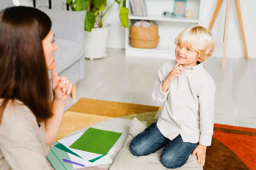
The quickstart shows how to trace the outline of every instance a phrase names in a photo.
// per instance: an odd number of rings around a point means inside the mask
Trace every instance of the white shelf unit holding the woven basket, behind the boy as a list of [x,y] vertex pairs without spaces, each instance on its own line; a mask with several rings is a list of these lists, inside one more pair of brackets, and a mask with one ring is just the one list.
[[134,48],[130,45],[130,29],[126,29],[125,36],[125,56],[126,57],[153,57],[175,59],[175,37],[185,28],[199,24],[201,21],[203,0],[187,0],[186,9],[194,12],[194,18],[185,17],[171,18],[163,16],[164,11],[173,11],[174,0],[146,0],[148,16],[133,16],[130,10],[130,2],[126,0],[126,7],[129,9],[129,25],[137,20],[151,20],[158,25],[159,44],[153,49]]

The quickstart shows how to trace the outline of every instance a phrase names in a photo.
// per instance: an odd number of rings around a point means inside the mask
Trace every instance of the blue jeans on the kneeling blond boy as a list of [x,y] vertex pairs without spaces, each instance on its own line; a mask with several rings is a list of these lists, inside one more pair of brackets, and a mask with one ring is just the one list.
[[198,143],[183,142],[181,135],[169,140],[162,135],[156,123],[152,123],[131,141],[130,150],[135,156],[146,156],[164,147],[161,155],[163,166],[180,168],[197,145]]

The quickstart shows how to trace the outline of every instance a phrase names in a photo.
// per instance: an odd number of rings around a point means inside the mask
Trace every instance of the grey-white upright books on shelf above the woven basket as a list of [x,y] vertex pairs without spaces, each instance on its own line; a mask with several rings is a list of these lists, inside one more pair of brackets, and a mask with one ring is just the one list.
[[[146,0],[130,0],[131,11],[134,16],[148,16]],[[141,11],[141,12],[140,12]]]

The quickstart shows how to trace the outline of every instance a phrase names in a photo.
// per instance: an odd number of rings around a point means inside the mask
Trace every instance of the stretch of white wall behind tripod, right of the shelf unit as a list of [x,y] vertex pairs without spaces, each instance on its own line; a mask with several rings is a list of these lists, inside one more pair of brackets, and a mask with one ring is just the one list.
[[[202,25],[206,28],[209,28],[211,18],[216,8],[217,2],[217,0],[204,0],[204,19]],[[219,11],[219,14],[212,29],[212,34],[214,36],[217,46],[216,51],[213,53],[213,55],[219,57],[223,56],[222,42],[225,26],[226,3],[227,0],[223,0],[221,9]],[[256,58],[256,51],[254,50],[254,41],[256,39],[256,34],[253,31],[256,29],[256,24],[254,22],[254,17],[256,16],[255,6],[255,0],[240,0],[241,15],[243,19],[243,26],[249,58]],[[237,18],[236,5],[234,0],[231,0],[229,11],[227,57],[244,57],[244,48],[239,29],[239,22]]]

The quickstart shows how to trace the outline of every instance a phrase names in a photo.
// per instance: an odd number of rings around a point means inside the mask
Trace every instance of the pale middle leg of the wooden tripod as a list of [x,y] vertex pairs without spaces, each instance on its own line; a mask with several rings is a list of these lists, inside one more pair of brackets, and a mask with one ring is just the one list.
[[225,29],[224,29],[225,31],[224,31],[224,46],[223,46],[223,58],[222,58],[222,70],[224,70],[224,69],[225,69],[225,66],[226,66],[229,7],[230,7],[230,0],[227,0],[226,19],[225,19]]

